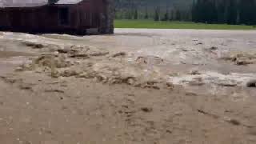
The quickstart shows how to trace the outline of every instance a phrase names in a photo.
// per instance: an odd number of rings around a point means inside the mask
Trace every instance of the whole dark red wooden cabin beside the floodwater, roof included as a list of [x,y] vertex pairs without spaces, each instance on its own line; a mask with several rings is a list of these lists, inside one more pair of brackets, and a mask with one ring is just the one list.
[[0,30],[113,34],[113,0],[0,0]]

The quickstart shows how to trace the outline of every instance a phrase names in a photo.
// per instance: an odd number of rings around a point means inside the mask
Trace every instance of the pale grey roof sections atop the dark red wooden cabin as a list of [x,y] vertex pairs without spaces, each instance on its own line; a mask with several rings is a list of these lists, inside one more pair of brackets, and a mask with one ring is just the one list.
[[[76,4],[82,0],[58,0],[55,4]],[[34,7],[44,6],[48,0],[0,0],[0,7]]]

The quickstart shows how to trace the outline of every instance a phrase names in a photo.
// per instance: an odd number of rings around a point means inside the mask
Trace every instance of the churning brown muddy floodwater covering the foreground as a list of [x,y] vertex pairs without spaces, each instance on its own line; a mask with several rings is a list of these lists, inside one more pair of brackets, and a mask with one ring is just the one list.
[[0,32],[0,142],[254,144],[256,31]]

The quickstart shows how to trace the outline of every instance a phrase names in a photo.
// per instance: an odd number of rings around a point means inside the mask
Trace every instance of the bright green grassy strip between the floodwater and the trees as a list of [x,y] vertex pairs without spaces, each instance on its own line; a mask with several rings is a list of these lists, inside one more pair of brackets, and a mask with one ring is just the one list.
[[256,30],[256,26],[204,24],[194,22],[155,22],[153,20],[115,20],[115,28]]

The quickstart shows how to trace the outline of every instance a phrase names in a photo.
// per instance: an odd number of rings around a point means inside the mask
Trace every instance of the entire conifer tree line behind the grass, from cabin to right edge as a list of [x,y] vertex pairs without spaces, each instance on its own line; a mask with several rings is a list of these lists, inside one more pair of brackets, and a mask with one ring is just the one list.
[[256,25],[256,0],[193,0],[190,7],[138,6],[130,1],[116,18]]

